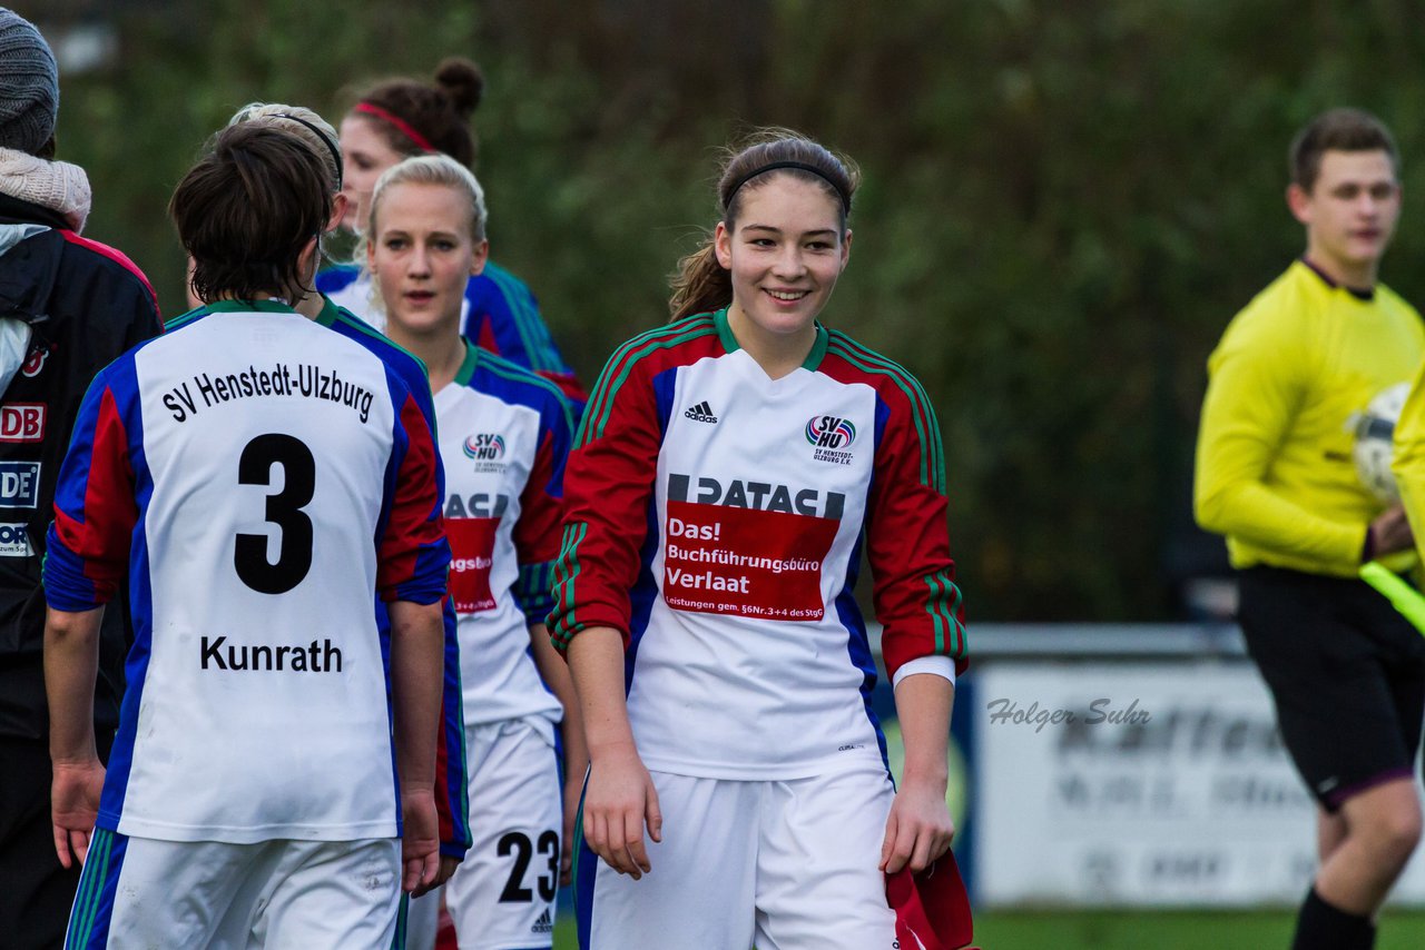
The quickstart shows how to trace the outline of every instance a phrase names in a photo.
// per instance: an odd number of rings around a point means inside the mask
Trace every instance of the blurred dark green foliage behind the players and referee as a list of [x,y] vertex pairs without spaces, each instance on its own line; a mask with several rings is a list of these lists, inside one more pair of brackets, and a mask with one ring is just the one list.
[[1406,211],[1384,278],[1425,303],[1425,34],[1405,0],[115,7],[114,64],[64,81],[61,152],[91,172],[90,232],[168,313],[182,262],[162,209],[238,105],[335,121],[353,85],[452,53],[487,74],[494,255],[590,382],[665,319],[665,276],[715,219],[717,145],[778,124],[855,157],[826,319],[939,407],[972,620],[1174,610],[1203,362],[1301,251],[1285,145],[1317,111],[1395,128]]

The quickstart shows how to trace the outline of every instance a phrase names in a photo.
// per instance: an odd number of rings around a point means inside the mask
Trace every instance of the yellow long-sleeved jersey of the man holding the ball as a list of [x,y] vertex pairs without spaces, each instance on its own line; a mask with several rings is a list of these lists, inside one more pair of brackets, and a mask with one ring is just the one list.
[[1385,506],[1355,473],[1355,422],[1422,356],[1409,303],[1384,285],[1364,298],[1302,261],[1233,318],[1207,359],[1193,489],[1197,523],[1227,536],[1233,567],[1357,574]]

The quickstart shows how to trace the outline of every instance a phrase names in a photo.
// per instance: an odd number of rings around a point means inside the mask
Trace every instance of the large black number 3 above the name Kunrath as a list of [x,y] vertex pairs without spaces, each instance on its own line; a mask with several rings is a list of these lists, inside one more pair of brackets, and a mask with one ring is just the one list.
[[282,490],[266,497],[266,521],[278,528],[276,563],[268,561],[266,534],[238,534],[232,565],[244,584],[262,594],[285,594],[312,570],[312,518],[302,508],[316,490],[316,460],[301,439],[269,432],[242,449],[238,484],[271,486],[282,467]]

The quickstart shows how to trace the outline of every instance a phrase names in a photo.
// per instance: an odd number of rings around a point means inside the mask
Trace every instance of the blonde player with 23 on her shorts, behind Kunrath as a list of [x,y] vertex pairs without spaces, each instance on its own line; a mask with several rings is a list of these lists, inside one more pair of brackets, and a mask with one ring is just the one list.
[[[380,177],[365,228],[386,332],[429,369],[446,471],[475,835],[446,884],[463,950],[550,946],[566,837],[554,755],[564,709],[542,672],[573,706],[543,624],[569,406],[549,380],[460,336],[462,295],[487,252],[484,216],[475,175],[428,155]],[[564,741],[577,789],[586,762],[577,716],[566,719]]]

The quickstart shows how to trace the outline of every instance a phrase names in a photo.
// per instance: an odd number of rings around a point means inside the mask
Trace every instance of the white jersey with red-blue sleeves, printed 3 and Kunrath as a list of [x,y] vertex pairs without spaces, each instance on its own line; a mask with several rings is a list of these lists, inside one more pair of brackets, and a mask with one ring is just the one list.
[[399,803],[372,611],[435,602],[449,548],[409,387],[275,302],[225,302],[90,387],[46,595],[130,580],[134,645],[98,826],[170,840],[390,837]]

